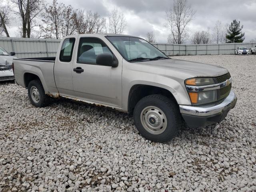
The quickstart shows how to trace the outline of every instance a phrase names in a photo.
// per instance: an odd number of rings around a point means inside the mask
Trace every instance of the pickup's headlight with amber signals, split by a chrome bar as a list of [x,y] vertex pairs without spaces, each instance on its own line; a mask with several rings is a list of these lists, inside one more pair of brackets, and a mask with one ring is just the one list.
[[210,91],[191,91],[194,86],[207,86],[215,84],[213,78],[191,78],[185,81],[188,95],[192,105],[200,105],[217,101],[217,90]]

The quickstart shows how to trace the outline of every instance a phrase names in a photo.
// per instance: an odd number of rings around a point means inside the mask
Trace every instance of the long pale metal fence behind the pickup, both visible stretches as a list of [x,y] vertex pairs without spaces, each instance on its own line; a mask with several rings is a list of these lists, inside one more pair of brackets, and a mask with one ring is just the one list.
[[[0,37],[0,46],[8,52],[15,52],[18,58],[54,57],[60,44],[59,39],[4,38]],[[154,43],[156,48],[168,56],[173,55],[216,55],[234,54],[239,46],[252,48],[256,43],[178,45]]]

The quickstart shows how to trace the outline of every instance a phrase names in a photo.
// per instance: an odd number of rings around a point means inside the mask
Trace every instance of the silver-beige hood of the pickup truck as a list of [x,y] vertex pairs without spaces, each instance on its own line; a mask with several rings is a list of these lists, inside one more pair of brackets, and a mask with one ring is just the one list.
[[164,70],[182,72],[193,77],[216,77],[228,73],[226,68],[220,66],[178,59],[163,59],[157,61],[140,62],[138,64],[154,66]]

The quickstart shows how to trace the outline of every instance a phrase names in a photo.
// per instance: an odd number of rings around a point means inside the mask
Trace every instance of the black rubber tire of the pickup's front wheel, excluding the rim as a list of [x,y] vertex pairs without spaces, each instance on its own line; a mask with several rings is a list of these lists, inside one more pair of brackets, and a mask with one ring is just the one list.
[[[149,106],[155,106],[164,112],[167,120],[167,126],[165,126],[164,132],[160,134],[152,134],[144,128],[143,115],[141,120],[141,114],[145,108]],[[146,112],[147,113],[147,112]],[[140,134],[147,140],[154,142],[167,142],[172,140],[178,131],[181,124],[181,115],[176,102],[170,100],[166,96],[162,95],[149,95],[142,98],[134,108],[134,123]],[[144,118],[146,119],[146,118]],[[150,120],[149,120],[150,121]],[[153,123],[156,121],[154,120]],[[163,121],[164,122],[164,121]]]

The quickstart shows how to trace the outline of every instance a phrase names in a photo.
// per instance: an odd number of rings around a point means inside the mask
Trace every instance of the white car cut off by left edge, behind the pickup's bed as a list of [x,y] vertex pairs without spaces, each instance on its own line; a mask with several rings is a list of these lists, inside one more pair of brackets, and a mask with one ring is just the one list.
[[16,58],[14,55],[14,52],[9,54],[0,46],[0,81],[15,80],[12,71],[12,59]]

